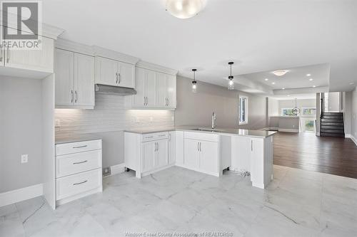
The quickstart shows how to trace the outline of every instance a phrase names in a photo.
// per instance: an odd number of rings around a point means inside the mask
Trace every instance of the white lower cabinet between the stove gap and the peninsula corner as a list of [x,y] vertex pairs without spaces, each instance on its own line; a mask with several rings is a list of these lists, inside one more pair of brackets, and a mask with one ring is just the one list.
[[135,170],[136,177],[141,178],[174,164],[172,160],[169,163],[169,143],[171,144],[169,137],[169,132],[156,132],[146,135],[125,132],[124,158],[126,167]]

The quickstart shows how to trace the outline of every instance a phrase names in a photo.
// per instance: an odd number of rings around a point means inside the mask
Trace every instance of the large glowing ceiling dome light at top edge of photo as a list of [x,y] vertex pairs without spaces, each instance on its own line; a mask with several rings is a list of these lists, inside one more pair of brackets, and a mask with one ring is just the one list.
[[179,19],[196,16],[203,9],[203,0],[166,0],[166,11]]

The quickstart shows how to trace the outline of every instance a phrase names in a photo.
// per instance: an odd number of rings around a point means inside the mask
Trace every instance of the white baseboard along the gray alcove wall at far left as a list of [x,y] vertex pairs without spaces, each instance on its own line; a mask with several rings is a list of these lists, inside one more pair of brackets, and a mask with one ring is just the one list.
[[0,194],[0,207],[16,204],[16,202],[33,199],[36,196],[42,195],[44,195],[44,186],[42,184],[27,186],[23,189],[6,191],[5,193]]

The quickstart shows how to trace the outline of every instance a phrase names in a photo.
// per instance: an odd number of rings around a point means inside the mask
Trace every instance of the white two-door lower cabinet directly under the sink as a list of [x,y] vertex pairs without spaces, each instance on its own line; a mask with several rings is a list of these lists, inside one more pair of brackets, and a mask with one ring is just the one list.
[[184,132],[183,167],[219,176],[218,135]]

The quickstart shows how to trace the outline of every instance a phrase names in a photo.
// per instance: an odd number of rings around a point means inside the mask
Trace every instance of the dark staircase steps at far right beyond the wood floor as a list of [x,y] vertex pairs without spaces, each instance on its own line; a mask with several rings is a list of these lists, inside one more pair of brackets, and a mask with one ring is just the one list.
[[321,137],[345,137],[343,112],[323,112],[321,115]]

